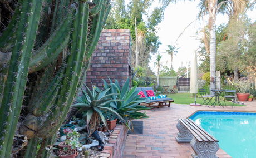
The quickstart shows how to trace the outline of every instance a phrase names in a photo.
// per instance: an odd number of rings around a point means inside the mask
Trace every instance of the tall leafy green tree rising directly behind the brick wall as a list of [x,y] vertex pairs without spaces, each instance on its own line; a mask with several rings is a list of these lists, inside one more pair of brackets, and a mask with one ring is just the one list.
[[[148,67],[151,55],[157,52],[160,45],[156,32],[158,30],[157,24],[163,19],[161,14],[163,9],[156,7],[151,14],[148,14],[147,9],[149,9],[151,2],[152,0],[131,0],[125,6],[125,0],[114,1],[114,7],[111,9],[106,22],[106,29],[130,29],[132,43],[134,43],[131,57],[133,67]],[[125,11],[125,16],[119,16],[116,11]],[[144,21],[142,17],[146,17],[147,20]],[[136,39],[136,31],[138,39]]]

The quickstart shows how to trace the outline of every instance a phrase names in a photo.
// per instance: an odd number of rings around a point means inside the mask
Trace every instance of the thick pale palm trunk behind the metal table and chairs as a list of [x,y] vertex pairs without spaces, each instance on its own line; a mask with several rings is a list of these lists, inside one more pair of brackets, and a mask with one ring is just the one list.
[[216,88],[216,12],[217,12],[217,0],[208,0],[209,11],[209,31],[210,31],[210,89]]

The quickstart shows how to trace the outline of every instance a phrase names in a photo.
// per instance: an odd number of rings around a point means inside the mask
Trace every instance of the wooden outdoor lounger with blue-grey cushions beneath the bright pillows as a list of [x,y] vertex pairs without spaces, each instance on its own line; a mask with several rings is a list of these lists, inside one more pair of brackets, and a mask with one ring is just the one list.
[[[146,91],[153,90],[153,88],[152,87],[137,87],[136,90],[142,91],[144,93],[144,95],[146,97],[148,97]],[[153,92],[154,92],[154,90],[153,90]],[[155,95],[155,93],[154,93],[154,95]],[[156,100],[148,99],[144,103],[147,104],[147,106],[149,106],[149,107],[153,107],[152,105],[154,105],[155,103],[158,103],[157,108],[161,108],[162,106],[170,107],[171,102],[174,102],[174,100],[172,98],[157,98]]]

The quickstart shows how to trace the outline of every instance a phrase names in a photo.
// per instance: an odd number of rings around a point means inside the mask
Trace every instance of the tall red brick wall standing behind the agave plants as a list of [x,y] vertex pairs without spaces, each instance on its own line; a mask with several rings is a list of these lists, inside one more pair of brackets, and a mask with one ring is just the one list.
[[130,71],[130,31],[129,29],[104,29],[91,57],[87,71],[86,85],[91,83],[102,87],[102,79],[118,80],[122,86]]

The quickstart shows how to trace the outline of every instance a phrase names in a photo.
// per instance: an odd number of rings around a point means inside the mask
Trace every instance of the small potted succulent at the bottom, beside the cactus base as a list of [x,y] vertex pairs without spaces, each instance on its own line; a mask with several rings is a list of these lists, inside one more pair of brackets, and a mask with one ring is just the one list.
[[75,158],[78,153],[76,152],[76,149],[78,147],[81,147],[80,142],[78,142],[78,138],[80,135],[76,131],[68,132],[67,133],[67,139],[65,142],[61,142],[59,146],[65,145],[60,151],[60,158]]

